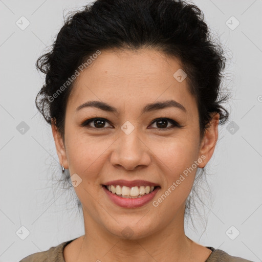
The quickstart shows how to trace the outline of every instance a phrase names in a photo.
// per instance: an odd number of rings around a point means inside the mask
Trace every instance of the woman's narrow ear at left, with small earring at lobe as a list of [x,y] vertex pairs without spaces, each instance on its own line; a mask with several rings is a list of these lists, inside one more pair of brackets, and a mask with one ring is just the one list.
[[56,152],[59,158],[60,165],[63,165],[65,169],[68,169],[67,154],[65,152],[65,147],[63,144],[63,139],[60,132],[58,132],[57,126],[55,125],[55,120],[52,118],[52,133],[55,140]]

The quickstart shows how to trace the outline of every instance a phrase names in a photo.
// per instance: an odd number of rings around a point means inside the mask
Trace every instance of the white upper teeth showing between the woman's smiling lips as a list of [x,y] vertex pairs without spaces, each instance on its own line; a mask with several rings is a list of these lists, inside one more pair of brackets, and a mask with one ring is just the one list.
[[118,197],[126,199],[137,199],[142,198],[145,195],[150,194],[156,188],[160,186],[120,186],[120,185],[102,185],[106,190],[110,191],[113,194],[116,194]]

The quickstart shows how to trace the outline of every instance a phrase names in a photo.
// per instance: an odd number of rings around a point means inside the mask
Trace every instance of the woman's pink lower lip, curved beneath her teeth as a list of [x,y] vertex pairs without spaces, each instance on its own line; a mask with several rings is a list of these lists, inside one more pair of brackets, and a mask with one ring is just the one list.
[[119,197],[117,194],[113,194],[111,191],[107,190],[104,186],[102,186],[102,187],[103,187],[105,193],[108,195],[108,197],[115,204],[117,204],[120,207],[127,207],[127,208],[135,208],[135,207],[141,207],[141,206],[145,205],[146,203],[148,203],[150,200],[152,200],[155,197],[156,193],[160,189],[160,187],[157,187],[154,191],[152,191],[149,194],[145,194],[141,198],[126,199],[126,198]]

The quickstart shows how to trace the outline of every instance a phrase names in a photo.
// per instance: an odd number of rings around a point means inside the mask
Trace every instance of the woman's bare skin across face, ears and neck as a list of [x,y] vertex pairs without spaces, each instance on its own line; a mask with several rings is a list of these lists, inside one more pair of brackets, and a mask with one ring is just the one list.
[[[195,168],[159,204],[152,205],[183,171],[202,155],[203,168],[217,141],[219,114],[213,114],[210,127],[200,138],[197,101],[189,92],[188,79],[178,82],[173,74],[182,68],[174,57],[160,51],[107,50],[76,79],[65,114],[64,142],[52,124],[60,164],[77,173],[82,182],[75,187],[82,203],[85,235],[65,247],[71,261],[176,261],[204,262],[211,250],[189,239],[184,232],[185,202],[191,191]],[[147,103],[173,99],[186,108],[168,107],[141,113]],[[76,108],[90,100],[106,102],[119,113],[95,107]],[[105,118],[104,128],[90,118]],[[170,118],[165,130],[157,118]],[[126,135],[121,126],[129,121],[134,130]],[[161,186],[155,198],[139,208],[114,204],[102,189],[107,181],[146,180]],[[131,238],[121,232],[132,229]],[[172,232],[172,233],[171,233]],[[99,261],[99,260],[98,260]]]

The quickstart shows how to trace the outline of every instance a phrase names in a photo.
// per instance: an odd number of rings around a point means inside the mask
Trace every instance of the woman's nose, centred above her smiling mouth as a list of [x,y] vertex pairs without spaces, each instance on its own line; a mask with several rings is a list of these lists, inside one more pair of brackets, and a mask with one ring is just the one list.
[[151,161],[150,149],[137,128],[130,134],[126,134],[122,130],[119,133],[119,137],[112,147],[111,164],[126,170],[135,170],[148,166]]

